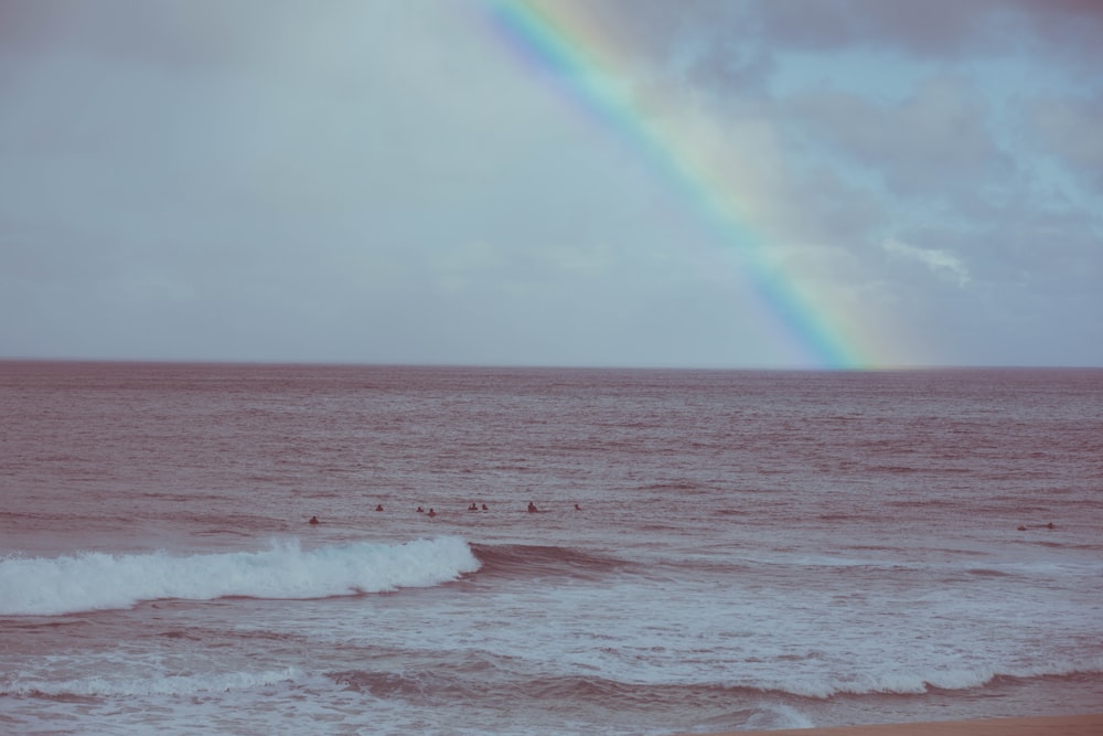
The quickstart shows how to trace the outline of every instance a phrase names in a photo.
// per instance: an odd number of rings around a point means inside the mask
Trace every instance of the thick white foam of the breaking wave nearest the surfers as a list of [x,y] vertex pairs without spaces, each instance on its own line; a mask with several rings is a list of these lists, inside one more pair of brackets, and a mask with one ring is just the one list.
[[53,616],[165,598],[300,599],[382,593],[439,585],[479,567],[468,543],[454,536],[309,551],[290,540],[272,542],[259,552],[8,557],[0,559],[0,615]]

